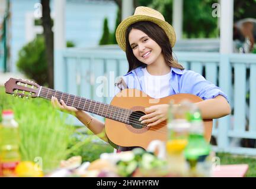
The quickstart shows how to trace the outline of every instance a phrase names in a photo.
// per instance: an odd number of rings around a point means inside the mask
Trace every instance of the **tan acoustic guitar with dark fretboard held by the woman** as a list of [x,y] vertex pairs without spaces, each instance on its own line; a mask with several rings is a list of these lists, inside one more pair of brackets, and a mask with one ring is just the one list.
[[[166,121],[151,127],[139,122],[139,118],[146,114],[145,107],[168,104],[170,100],[173,100],[174,104],[179,104],[184,99],[193,103],[202,101],[200,97],[193,94],[174,94],[161,99],[153,99],[140,90],[124,89],[116,94],[108,105],[49,89],[28,80],[14,78],[10,78],[5,83],[5,92],[20,97],[41,97],[48,100],[55,96],[59,102],[62,99],[68,106],[103,116],[105,118],[105,133],[110,144],[115,148],[118,146],[140,146],[146,149],[153,140],[167,141]],[[212,119],[204,120],[204,131],[205,138],[210,141]]]

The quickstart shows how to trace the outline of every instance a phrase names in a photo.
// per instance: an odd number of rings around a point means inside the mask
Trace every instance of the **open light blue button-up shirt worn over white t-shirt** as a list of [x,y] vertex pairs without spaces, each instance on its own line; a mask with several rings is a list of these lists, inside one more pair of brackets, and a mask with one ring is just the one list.
[[[138,89],[145,92],[145,81],[143,79],[144,72],[143,67],[137,67],[123,76],[124,81],[129,89]],[[222,95],[228,100],[228,97],[222,90],[215,86],[215,84],[207,81],[199,73],[191,70],[180,70],[171,68],[171,77],[169,79],[169,95],[179,93],[195,94],[201,97],[201,99],[213,99],[218,95]],[[115,94],[119,93],[120,89],[115,88]]]

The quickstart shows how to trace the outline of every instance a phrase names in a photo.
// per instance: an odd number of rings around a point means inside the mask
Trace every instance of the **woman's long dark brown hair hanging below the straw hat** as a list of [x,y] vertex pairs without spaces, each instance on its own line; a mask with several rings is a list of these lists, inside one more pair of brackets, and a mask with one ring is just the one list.
[[177,69],[184,70],[184,67],[181,66],[174,58],[172,57],[172,47],[171,43],[169,43],[169,39],[167,34],[161,27],[157,24],[150,21],[140,21],[134,24],[131,24],[126,30],[126,57],[129,63],[128,72],[136,69],[137,67],[143,66],[146,67],[146,64],[137,60],[135,55],[133,54],[132,47],[130,47],[129,43],[129,34],[132,29],[137,29],[145,32],[153,41],[155,41],[161,48],[162,54],[164,55],[164,59],[167,62],[169,67],[174,67]]

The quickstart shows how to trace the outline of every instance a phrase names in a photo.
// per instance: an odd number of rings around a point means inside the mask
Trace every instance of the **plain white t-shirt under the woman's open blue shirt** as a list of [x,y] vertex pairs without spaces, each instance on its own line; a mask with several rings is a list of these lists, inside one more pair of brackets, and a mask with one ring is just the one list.
[[156,99],[169,96],[169,79],[171,78],[171,73],[162,76],[153,76],[148,73],[146,67],[142,70],[144,73],[143,79],[145,82],[146,94]]

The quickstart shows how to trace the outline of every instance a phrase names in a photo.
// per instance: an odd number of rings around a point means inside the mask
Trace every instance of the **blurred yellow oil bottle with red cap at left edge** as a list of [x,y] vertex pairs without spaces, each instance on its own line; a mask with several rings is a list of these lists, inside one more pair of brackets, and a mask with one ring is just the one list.
[[19,144],[18,123],[14,120],[14,113],[12,110],[3,110],[0,123],[0,165],[4,177],[15,177],[15,167],[21,160]]

